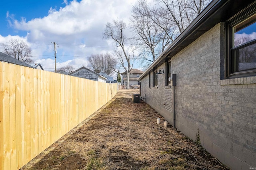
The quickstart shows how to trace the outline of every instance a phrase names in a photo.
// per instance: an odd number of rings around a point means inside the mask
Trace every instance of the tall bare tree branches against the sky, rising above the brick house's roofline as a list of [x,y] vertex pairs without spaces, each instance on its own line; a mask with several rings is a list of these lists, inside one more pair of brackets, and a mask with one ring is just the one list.
[[200,14],[210,0],[138,0],[132,6],[131,28],[142,62],[151,64]]

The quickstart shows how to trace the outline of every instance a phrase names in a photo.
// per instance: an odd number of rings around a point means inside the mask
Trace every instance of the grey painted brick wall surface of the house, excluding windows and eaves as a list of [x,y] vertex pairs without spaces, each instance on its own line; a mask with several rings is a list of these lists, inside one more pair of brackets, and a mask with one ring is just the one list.
[[[232,169],[256,165],[256,77],[220,80],[224,51],[224,24],[220,23],[172,57],[176,74],[176,127],[196,139]],[[165,68],[164,64],[159,68]],[[166,71],[164,71],[166,72]],[[158,87],[142,79],[146,103],[171,124],[173,87],[158,76]]]

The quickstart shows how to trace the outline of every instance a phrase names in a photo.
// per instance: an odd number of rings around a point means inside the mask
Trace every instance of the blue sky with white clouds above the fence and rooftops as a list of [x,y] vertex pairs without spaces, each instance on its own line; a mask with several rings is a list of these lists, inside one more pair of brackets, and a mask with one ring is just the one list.
[[[78,69],[88,66],[91,54],[112,53],[113,41],[103,39],[105,26],[117,18],[128,23],[135,3],[136,0],[1,0],[0,43],[22,39],[32,49],[34,63],[54,71],[56,42],[57,69],[66,65]],[[136,65],[134,68],[141,69]]]

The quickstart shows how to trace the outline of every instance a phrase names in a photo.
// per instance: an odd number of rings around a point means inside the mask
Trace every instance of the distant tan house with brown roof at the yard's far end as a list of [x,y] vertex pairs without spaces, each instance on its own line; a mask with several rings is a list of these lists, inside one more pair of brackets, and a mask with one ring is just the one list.
[[[142,75],[142,73],[144,73],[143,71],[140,71],[138,69],[131,69],[130,71],[130,85],[138,85],[138,78]],[[124,72],[124,73],[121,73],[122,75],[122,82],[123,82],[123,85],[126,85],[127,84],[127,73]]]

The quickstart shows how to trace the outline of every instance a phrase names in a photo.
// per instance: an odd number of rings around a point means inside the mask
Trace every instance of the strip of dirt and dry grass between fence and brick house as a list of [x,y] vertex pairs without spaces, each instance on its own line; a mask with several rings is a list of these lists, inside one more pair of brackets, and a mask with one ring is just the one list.
[[[68,132],[22,170],[229,169],[166,121],[138,90],[120,90],[99,111]],[[156,119],[160,118],[160,124]]]

